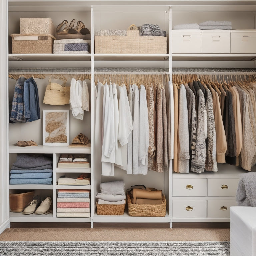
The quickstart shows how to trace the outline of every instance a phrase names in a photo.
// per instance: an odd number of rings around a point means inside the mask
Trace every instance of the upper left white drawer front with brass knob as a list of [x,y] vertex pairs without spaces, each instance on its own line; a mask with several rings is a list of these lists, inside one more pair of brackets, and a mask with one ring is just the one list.
[[173,179],[173,196],[206,196],[207,179]]

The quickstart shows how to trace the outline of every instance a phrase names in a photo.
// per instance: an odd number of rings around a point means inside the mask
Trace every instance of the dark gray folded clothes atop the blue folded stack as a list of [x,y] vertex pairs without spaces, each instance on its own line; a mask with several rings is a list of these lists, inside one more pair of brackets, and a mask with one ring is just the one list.
[[16,161],[13,163],[13,166],[19,168],[34,168],[40,166],[45,167],[48,164],[52,164],[52,158],[46,157],[42,154],[17,154],[17,158]]

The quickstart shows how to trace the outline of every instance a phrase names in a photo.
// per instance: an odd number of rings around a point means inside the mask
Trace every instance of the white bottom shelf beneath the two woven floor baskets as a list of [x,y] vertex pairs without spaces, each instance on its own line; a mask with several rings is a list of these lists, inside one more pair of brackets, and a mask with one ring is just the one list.
[[98,215],[93,216],[93,222],[105,222],[105,223],[168,223],[170,222],[169,214],[166,213],[165,217],[132,217],[127,212],[124,215]]

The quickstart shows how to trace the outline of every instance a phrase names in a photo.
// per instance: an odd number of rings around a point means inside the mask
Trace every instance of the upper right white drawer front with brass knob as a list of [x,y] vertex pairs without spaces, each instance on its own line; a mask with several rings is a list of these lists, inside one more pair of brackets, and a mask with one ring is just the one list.
[[207,179],[208,196],[236,196],[237,185],[240,179]]

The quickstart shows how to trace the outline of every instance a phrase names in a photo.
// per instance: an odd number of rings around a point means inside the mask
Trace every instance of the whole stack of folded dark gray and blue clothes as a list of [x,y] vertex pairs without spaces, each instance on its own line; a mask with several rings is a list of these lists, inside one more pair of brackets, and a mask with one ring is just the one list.
[[42,154],[17,154],[10,184],[52,184],[52,159]]

